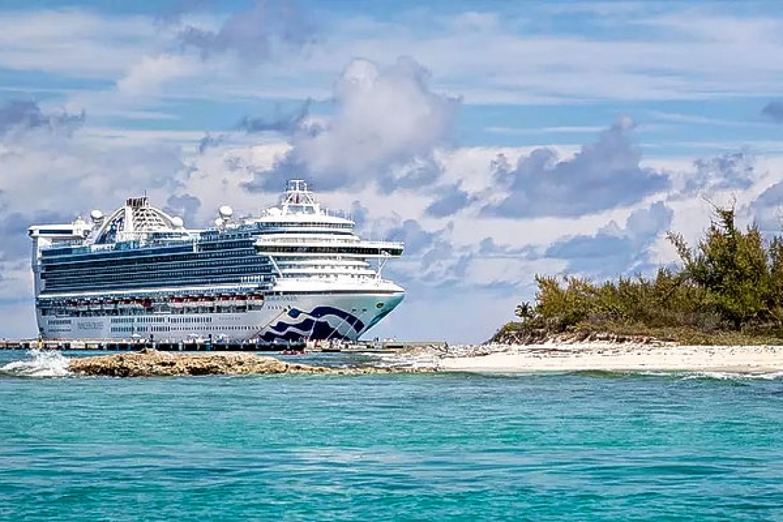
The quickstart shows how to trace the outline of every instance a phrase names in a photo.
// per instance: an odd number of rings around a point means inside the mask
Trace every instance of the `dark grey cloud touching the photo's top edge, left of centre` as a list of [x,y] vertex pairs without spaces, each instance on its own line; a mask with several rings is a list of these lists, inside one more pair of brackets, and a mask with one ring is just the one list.
[[183,47],[199,49],[204,59],[230,52],[245,63],[270,59],[278,49],[300,49],[315,37],[315,26],[291,2],[251,2],[216,30],[188,25],[179,32]]

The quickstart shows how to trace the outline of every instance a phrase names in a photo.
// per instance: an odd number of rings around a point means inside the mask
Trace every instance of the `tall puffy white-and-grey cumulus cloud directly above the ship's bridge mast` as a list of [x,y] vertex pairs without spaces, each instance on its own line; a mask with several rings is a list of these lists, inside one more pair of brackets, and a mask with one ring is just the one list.
[[429,72],[409,57],[380,68],[354,59],[334,85],[334,114],[319,131],[300,131],[249,190],[278,187],[292,175],[319,189],[378,182],[384,189],[434,182],[435,147],[447,142],[459,100],[431,91]]

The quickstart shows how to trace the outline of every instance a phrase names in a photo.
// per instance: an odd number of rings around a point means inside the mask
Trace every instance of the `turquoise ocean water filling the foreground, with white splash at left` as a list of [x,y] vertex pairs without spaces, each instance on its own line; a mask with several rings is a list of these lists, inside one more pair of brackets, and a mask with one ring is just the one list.
[[63,367],[0,352],[0,520],[783,520],[780,378]]

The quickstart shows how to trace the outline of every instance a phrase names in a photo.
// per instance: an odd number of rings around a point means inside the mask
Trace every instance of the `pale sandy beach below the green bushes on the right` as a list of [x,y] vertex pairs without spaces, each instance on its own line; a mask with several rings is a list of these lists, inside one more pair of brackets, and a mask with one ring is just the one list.
[[510,346],[489,355],[445,357],[441,370],[477,372],[711,371],[783,372],[783,346],[651,346],[542,344]]

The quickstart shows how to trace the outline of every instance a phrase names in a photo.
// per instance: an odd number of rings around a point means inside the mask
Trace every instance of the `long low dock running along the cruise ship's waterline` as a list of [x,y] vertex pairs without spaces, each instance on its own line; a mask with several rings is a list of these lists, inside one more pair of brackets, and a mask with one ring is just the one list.
[[446,347],[443,341],[286,341],[286,342],[249,342],[249,341],[179,341],[157,342],[149,340],[117,339],[17,339],[0,340],[0,350],[59,350],[59,351],[139,351],[153,348],[158,351],[275,351],[275,352],[358,352],[395,353],[423,348]]

